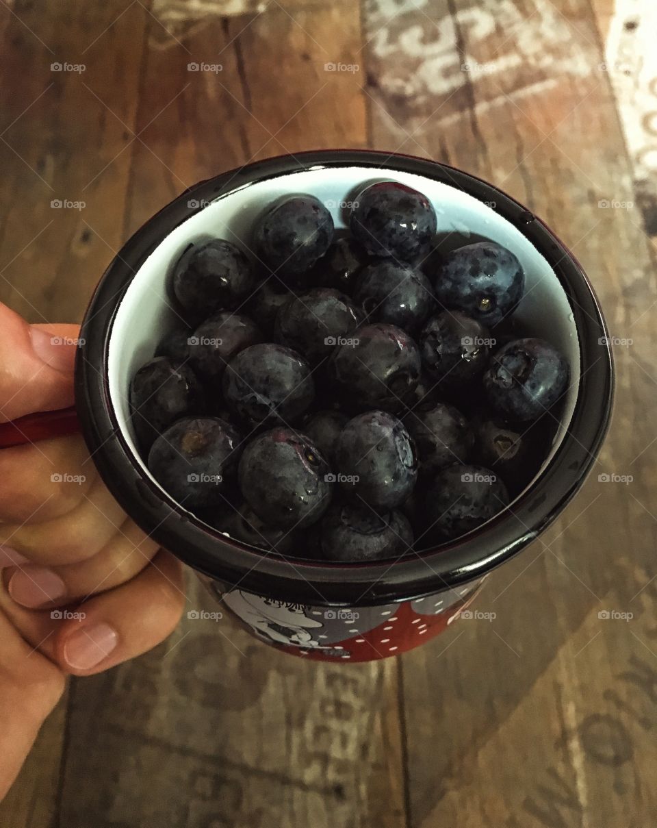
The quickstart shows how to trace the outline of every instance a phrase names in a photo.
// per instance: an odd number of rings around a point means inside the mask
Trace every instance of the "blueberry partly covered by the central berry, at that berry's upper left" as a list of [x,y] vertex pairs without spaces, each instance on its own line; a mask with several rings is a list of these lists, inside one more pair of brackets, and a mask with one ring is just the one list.
[[361,311],[348,296],[330,287],[315,287],[292,296],[281,307],[275,338],[316,364],[327,359],[341,339],[348,339],[361,319]]

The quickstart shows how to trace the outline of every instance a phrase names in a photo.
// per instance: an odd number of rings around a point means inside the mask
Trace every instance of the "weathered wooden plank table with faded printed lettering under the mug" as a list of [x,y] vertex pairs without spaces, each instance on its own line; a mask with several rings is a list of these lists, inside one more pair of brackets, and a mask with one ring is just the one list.
[[494,620],[348,667],[185,619],[70,683],[0,825],[657,824],[655,31],[652,0],[0,0],[0,298],[29,320],[80,320],[194,181],[345,146],[509,191],[583,262],[618,338],[602,456],[487,580]]

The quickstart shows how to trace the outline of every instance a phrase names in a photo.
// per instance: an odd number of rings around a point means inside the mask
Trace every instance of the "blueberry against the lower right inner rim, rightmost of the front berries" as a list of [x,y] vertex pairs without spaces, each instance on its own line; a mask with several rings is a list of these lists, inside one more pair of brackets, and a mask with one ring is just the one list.
[[505,484],[491,469],[454,464],[440,469],[424,489],[426,530],[416,547],[454,540],[490,520],[509,503]]

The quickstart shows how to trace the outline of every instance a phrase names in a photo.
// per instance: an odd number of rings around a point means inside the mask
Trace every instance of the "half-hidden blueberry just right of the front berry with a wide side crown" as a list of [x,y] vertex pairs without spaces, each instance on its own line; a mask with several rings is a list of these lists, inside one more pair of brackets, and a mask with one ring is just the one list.
[[404,417],[406,431],[415,441],[424,478],[453,463],[468,462],[472,431],[458,408],[439,403],[429,411],[410,412]]

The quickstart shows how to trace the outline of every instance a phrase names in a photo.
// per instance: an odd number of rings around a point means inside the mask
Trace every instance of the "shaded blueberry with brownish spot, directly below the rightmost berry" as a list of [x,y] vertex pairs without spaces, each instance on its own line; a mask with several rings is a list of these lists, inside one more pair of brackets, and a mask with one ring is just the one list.
[[[499,474],[508,489],[520,493],[540,468],[537,448],[549,445],[538,434],[512,428],[506,423],[477,417],[472,421],[474,435],[473,457],[477,462]],[[541,435],[543,436],[543,435]],[[536,438],[535,440],[532,438]]]

